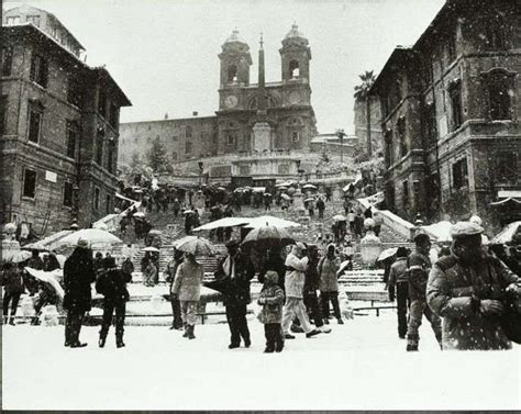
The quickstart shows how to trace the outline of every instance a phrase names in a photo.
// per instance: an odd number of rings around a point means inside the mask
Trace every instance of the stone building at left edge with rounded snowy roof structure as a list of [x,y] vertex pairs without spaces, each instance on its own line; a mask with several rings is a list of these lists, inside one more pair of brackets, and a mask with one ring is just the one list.
[[[54,27],[54,29],[53,29]],[[129,99],[43,10],[3,15],[0,96],[2,222],[22,236],[80,226],[113,211],[120,108]]]

